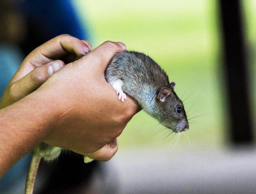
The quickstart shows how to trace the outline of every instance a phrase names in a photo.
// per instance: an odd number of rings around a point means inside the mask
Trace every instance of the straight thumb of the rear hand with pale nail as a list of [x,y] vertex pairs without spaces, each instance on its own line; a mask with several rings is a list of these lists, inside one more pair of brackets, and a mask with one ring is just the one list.
[[27,96],[39,88],[53,73],[58,71],[65,64],[57,60],[35,68],[27,75],[12,83],[10,86],[10,95],[15,101]]

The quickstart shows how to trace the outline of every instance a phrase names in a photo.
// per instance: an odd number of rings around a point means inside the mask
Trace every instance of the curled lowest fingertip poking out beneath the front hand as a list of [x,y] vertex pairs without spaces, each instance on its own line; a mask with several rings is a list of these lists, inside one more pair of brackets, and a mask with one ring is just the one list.
[[115,138],[96,152],[84,154],[85,156],[99,161],[109,161],[117,152],[118,144]]

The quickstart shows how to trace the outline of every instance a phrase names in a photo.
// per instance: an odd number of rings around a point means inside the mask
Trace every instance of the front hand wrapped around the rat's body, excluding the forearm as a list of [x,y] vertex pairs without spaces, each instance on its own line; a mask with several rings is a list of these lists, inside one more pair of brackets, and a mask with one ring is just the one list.
[[[109,147],[111,141],[116,142],[115,138],[139,110],[131,97],[119,101],[114,88],[104,78],[109,62],[123,49],[126,49],[123,43],[104,42],[61,68],[26,97],[42,99],[43,108],[54,115],[43,138],[45,143],[92,157],[93,152]],[[113,145],[116,148],[108,152],[110,158],[117,150],[117,144]],[[96,155],[101,153],[104,152]]]

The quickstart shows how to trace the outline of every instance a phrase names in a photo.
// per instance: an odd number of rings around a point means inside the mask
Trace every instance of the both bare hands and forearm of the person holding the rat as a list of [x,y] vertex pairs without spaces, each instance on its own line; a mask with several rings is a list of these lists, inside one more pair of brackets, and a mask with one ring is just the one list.
[[[0,176],[42,141],[103,161],[116,153],[115,138],[138,105],[129,97],[120,102],[104,71],[126,47],[107,41],[92,50],[90,43],[82,42],[68,35],[56,37],[29,54],[13,76],[0,103],[2,108],[9,105],[0,111]],[[84,49],[92,51],[65,66],[57,61],[57,72],[49,68],[56,59],[68,53],[84,54],[80,53]]]

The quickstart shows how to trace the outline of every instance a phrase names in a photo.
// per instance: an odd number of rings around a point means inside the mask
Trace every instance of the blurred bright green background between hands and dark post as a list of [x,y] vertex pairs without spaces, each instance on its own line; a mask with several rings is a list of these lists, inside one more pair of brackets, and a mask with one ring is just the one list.
[[[76,6],[94,47],[106,40],[122,41],[128,49],[148,54],[176,82],[188,119],[200,115],[189,120],[190,129],[180,134],[176,147],[223,145],[226,102],[217,2],[76,0]],[[141,111],[119,137],[119,147],[172,147],[179,135],[168,136],[170,132],[157,124]]]

